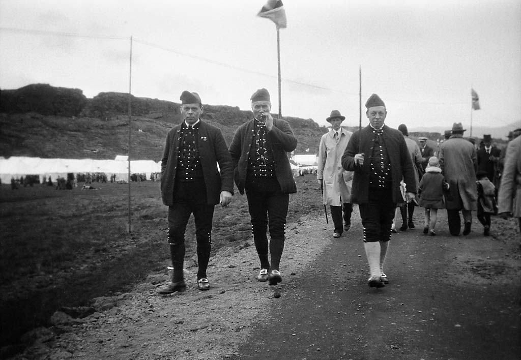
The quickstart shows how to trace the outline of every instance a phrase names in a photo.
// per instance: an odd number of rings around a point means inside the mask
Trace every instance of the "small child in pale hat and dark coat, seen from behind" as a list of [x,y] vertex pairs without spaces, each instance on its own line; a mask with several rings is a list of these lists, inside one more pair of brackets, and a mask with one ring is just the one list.
[[419,183],[421,190],[419,205],[425,207],[425,227],[424,234],[429,233],[435,236],[436,220],[438,209],[445,207],[443,202],[443,191],[449,190],[449,184],[441,174],[439,160],[436,156],[429,158],[429,163],[425,168],[425,174]]

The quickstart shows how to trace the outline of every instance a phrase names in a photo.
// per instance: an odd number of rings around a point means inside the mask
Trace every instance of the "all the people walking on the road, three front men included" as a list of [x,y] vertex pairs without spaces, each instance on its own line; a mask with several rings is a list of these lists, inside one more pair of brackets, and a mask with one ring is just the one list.
[[[168,206],[172,272],[171,281],[158,293],[186,289],[184,242],[192,214],[197,242],[196,283],[199,290],[210,288],[207,266],[214,208],[217,204],[226,207],[232,201],[234,182],[247,198],[261,269],[257,280],[276,285],[282,281],[280,264],[289,194],[297,191],[297,174],[287,156],[296,148],[297,139],[289,123],[272,117],[269,92],[259,89],[250,98],[253,117],[237,129],[228,148],[221,131],[201,119],[204,107],[199,94],[184,91],[180,100],[183,120],[168,132],[161,161],[160,188],[163,203]],[[365,107],[369,123],[355,132],[342,127],[345,117],[340,111],[331,111],[326,119],[331,128],[320,139],[314,175],[322,202],[330,209],[333,238],[350,230],[353,204],[358,205],[369,287],[390,283],[384,265],[391,234],[398,232],[395,219],[401,215],[400,231],[414,228],[413,214],[418,206],[424,208],[425,234],[436,235],[438,210],[445,208],[452,235],[460,235],[460,212],[463,235],[472,230],[472,212],[477,212],[483,234],[488,235],[490,215],[498,212],[499,185],[501,216],[519,217],[518,140],[508,144],[506,151],[499,151],[485,135],[482,149],[476,148],[475,143],[463,138],[466,130],[462,124],[454,123],[436,146],[425,137],[417,143],[409,138],[405,124],[399,129],[385,125],[387,107],[377,94],[368,98]]]

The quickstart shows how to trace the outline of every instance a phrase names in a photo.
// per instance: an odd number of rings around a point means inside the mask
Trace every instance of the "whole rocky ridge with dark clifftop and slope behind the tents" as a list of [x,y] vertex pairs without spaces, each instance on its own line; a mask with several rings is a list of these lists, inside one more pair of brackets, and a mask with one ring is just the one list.
[[[114,159],[128,152],[128,100],[125,93],[91,98],[79,89],[32,84],[2,90],[0,156]],[[166,134],[182,121],[179,103],[131,96],[131,159],[163,155]],[[221,129],[231,143],[235,130],[252,118],[239,107],[204,104],[202,119]],[[296,154],[316,153],[328,129],[312,119],[284,117],[298,139]]]

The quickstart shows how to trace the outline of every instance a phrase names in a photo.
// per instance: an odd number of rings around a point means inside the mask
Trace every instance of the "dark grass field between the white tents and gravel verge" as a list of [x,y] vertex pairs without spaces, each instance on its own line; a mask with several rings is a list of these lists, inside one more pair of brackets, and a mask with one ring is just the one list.
[[[299,177],[288,222],[323,211],[314,176]],[[98,190],[56,190],[46,185],[0,190],[0,346],[48,321],[60,306],[79,306],[125,290],[169,258],[167,210],[159,182],[93,183]],[[195,254],[193,217],[187,258]],[[213,253],[251,241],[246,196],[216,206]]]

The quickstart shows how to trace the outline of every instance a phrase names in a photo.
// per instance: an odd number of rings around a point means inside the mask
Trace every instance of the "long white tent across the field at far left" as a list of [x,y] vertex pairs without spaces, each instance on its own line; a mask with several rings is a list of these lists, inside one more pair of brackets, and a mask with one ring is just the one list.
[[[160,163],[153,160],[131,160],[131,173],[145,173],[150,179],[153,172],[161,172]],[[0,179],[2,183],[10,183],[11,178],[19,179],[27,175],[38,175],[40,182],[58,177],[67,178],[67,173],[102,172],[110,177],[116,175],[116,181],[128,180],[128,162],[125,160],[94,159],[45,159],[40,157],[11,156],[0,157]]]

